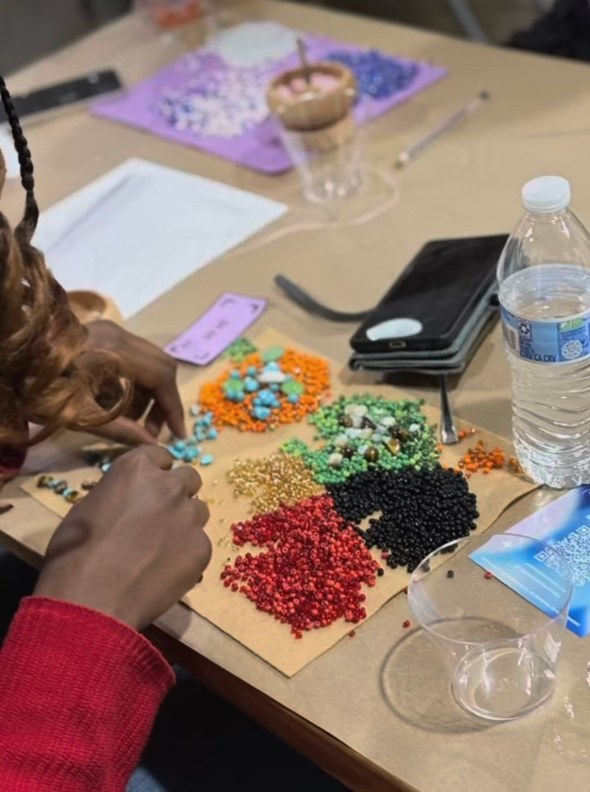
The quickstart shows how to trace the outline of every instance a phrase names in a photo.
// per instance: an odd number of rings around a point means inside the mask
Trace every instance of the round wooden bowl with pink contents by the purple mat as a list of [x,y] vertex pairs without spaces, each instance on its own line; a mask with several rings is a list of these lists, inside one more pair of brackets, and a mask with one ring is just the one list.
[[[356,98],[352,71],[338,63],[314,63],[309,68],[311,84],[303,67],[278,74],[268,86],[268,108],[290,131],[318,131],[337,124],[350,112]],[[314,77],[320,86],[314,86]],[[333,86],[321,86],[322,78],[333,78]]]

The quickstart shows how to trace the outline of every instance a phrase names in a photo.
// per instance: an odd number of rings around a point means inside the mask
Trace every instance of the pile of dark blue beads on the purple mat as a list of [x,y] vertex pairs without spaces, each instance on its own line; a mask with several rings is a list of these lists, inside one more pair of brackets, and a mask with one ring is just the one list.
[[379,50],[337,50],[330,52],[325,60],[341,63],[352,71],[359,86],[360,98],[389,99],[394,93],[409,88],[419,71],[417,63],[404,63],[383,55]]

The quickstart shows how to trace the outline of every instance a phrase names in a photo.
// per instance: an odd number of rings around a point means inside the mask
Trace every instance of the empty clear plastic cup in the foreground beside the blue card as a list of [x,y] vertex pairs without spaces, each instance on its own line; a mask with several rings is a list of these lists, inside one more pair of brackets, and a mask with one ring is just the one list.
[[[475,551],[483,565],[470,558]],[[520,585],[540,607],[491,573]],[[455,699],[493,721],[522,718],[550,699],[571,596],[558,552],[516,534],[443,545],[417,567],[408,589],[414,616],[443,651]]]

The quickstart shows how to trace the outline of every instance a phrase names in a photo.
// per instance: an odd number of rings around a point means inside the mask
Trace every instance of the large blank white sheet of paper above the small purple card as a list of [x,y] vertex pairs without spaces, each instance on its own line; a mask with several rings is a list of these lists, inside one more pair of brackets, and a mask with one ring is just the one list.
[[34,244],[64,288],[99,291],[128,318],[286,211],[251,192],[130,159],[44,212]]

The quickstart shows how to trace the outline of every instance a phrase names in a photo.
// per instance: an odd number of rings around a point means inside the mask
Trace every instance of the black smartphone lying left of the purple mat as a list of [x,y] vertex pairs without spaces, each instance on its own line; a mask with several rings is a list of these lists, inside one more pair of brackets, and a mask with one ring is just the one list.
[[[92,74],[86,74],[84,77],[13,96],[13,105],[22,119],[42,112],[69,108],[104,93],[116,93],[122,88],[123,83],[116,71],[112,69],[93,71]],[[4,109],[0,108],[0,123],[6,123],[7,120]]]

